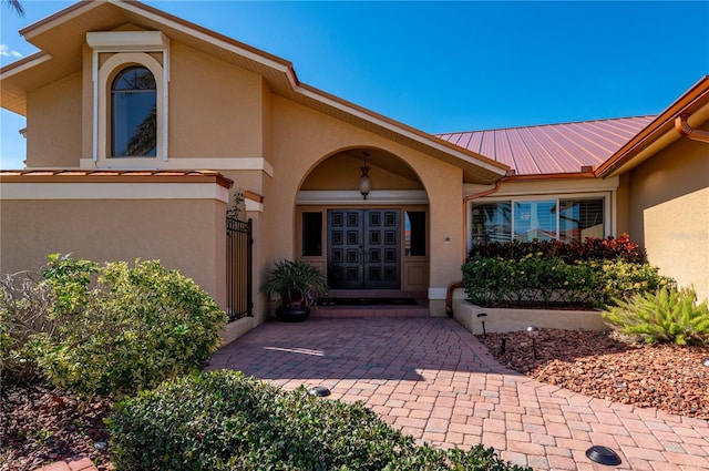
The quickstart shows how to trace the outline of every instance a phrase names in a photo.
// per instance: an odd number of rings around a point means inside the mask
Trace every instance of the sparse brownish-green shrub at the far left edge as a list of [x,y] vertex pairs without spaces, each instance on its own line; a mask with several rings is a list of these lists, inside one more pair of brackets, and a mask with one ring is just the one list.
[[52,304],[51,289],[37,273],[6,274],[0,279],[0,385],[39,378],[30,339],[52,330],[47,316]]

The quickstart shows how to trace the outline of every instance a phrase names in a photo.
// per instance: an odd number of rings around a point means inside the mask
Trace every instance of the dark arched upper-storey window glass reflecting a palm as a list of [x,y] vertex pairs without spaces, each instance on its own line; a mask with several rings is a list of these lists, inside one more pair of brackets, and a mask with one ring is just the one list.
[[144,66],[123,69],[111,85],[114,157],[154,157],[157,153],[157,85]]

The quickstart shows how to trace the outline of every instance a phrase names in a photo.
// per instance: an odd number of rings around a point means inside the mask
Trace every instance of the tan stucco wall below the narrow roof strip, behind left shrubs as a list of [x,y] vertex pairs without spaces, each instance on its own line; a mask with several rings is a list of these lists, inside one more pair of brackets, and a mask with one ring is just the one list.
[[0,272],[37,270],[52,253],[160,259],[224,308],[225,211],[216,199],[0,199]]

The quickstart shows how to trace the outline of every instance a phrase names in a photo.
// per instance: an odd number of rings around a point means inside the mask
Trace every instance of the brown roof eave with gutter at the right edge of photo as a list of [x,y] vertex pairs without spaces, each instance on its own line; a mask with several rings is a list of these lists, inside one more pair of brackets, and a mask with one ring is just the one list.
[[675,120],[679,116],[686,117],[690,126],[700,126],[709,121],[709,75],[701,78],[645,129],[618,149],[596,170],[596,176],[620,175],[680,139],[681,134],[675,124]]

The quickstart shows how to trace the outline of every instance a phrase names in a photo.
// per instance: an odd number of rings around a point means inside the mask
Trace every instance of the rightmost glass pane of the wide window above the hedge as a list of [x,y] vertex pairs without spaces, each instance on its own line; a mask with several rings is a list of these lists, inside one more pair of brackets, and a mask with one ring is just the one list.
[[561,199],[559,239],[573,242],[605,237],[603,209],[603,198]]

